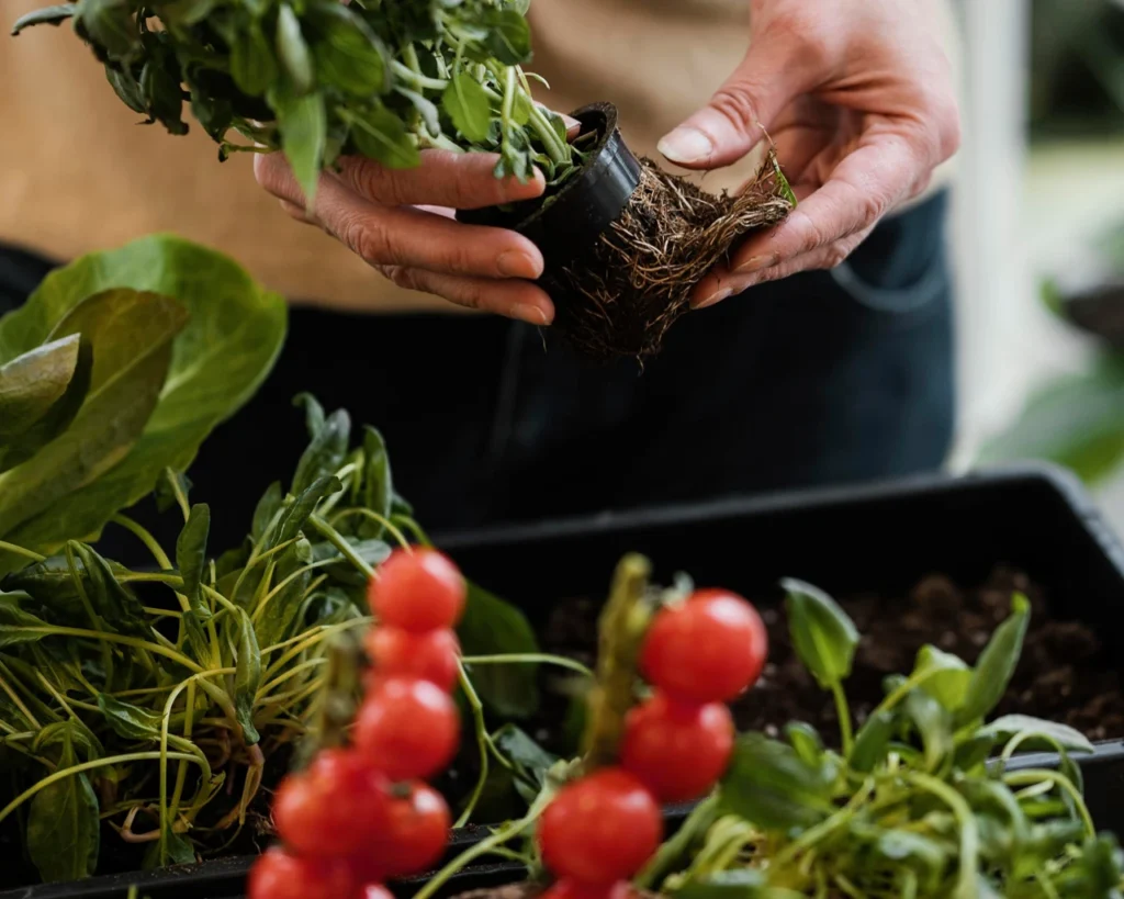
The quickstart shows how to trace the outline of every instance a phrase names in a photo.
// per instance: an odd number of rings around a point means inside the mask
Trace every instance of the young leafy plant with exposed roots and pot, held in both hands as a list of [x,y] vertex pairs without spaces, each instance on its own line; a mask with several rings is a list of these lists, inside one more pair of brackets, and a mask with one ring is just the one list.
[[[389,169],[420,151],[497,154],[496,175],[544,173],[542,200],[462,212],[543,251],[555,324],[595,356],[656,352],[691,288],[751,228],[795,205],[776,160],[738,198],[716,198],[637,161],[616,110],[562,117],[532,97],[528,0],[76,0],[13,34],[72,20],[126,106],[171,134],[183,103],[219,144],[283,151],[309,203],[321,169],[360,155]],[[596,211],[595,211],[596,210]]]

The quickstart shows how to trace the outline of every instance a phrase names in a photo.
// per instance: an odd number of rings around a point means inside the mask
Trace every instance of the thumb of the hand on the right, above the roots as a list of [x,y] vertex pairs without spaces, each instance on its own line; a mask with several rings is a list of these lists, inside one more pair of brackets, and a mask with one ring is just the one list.
[[658,144],[685,169],[719,169],[745,156],[806,89],[794,42],[763,34],[710,102]]

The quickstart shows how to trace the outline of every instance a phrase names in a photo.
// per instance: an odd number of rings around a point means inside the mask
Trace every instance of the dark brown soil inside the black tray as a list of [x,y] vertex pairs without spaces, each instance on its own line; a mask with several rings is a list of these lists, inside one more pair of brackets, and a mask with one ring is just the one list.
[[[1080,623],[1051,620],[1043,591],[1024,574],[1004,569],[967,591],[934,575],[906,598],[837,598],[862,635],[846,684],[856,720],[864,720],[883,697],[886,675],[909,673],[926,643],[975,663],[991,632],[1010,614],[1014,590],[1031,599],[1033,614],[1022,661],[996,714],[1060,721],[1093,741],[1124,738],[1121,678],[1097,635]],[[545,651],[591,662],[596,609],[589,600],[560,603],[546,629]],[[837,745],[834,705],[792,652],[783,610],[764,603],[759,609],[769,628],[769,663],[754,689],[734,706],[738,729],[776,734],[786,723],[799,720]]]

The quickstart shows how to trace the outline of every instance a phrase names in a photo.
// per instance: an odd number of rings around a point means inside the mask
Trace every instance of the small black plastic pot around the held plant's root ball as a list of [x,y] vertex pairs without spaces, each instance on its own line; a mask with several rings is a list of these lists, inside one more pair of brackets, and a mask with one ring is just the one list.
[[592,103],[571,113],[581,134],[596,134],[589,161],[546,200],[514,203],[510,209],[461,210],[460,221],[510,228],[542,251],[546,264],[538,283],[552,297],[563,292],[558,272],[580,257],[619,218],[640,183],[640,163],[625,145],[611,103]]

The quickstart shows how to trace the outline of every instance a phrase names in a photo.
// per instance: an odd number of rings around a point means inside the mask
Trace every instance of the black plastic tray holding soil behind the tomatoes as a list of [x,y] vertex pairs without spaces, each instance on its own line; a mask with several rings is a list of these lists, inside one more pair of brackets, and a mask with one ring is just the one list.
[[[685,571],[696,582],[754,597],[781,576],[830,592],[908,590],[927,572],[962,583],[985,579],[997,563],[1025,571],[1048,591],[1052,614],[1097,628],[1116,657],[1114,627],[1124,606],[1124,548],[1078,481],[1052,466],[1027,465],[959,478],[731,499],[541,525],[438,535],[482,587],[519,605],[542,624],[554,600],[602,596],[617,561],[647,555],[669,582]],[[1021,759],[1050,764],[1052,756]],[[1102,828],[1124,833],[1124,742],[1102,743],[1079,759],[1090,811]],[[683,817],[669,810],[669,826]],[[456,835],[451,855],[484,828]],[[129,886],[151,899],[234,899],[253,859],[236,857],[160,871],[0,892],[0,899],[123,899]],[[508,882],[509,864],[483,865],[442,895]],[[402,896],[414,886],[398,886]]]

